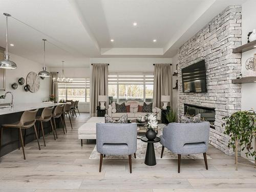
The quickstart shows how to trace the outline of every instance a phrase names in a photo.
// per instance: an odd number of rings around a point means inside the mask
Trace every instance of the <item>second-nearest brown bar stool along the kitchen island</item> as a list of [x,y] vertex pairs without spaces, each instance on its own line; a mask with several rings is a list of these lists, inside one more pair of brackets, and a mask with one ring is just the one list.
[[[42,110],[42,114],[41,116],[37,116],[36,117],[36,121],[40,122],[40,127],[41,127],[41,131],[42,131],[42,138],[44,139],[44,144],[46,146],[46,141],[45,141],[45,132],[44,132],[44,126],[42,125],[43,122],[51,122],[51,127],[52,127],[52,132],[53,132],[53,137],[54,140],[56,140],[55,138],[55,131],[53,129],[53,125],[52,125],[52,111],[53,111],[54,106],[52,106],[51,108],[45,108],[44,110]],[[40,133],[40,132],[39,132]]]

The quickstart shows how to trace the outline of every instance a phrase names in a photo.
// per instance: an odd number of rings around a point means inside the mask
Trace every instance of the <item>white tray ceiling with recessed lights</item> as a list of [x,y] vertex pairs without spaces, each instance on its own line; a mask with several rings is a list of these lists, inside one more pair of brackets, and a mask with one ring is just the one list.
[[[0,0],[8,12],[9,51],[51,67],[88,65],[89,57],[173,57],[228,5],[245,0]],[[5,47],[5,16],[0,46]],[[137,22],[134,27],[133,23]],[[32,29],[33,27],[34,29]],[[110,39],[114,39],[111,42]],[[157,39],[157,42],[153,42]]]

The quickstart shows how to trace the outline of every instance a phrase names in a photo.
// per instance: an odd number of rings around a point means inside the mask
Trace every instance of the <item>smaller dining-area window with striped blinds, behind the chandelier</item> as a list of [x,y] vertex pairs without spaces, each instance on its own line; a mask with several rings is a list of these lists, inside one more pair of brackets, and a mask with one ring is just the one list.
[[90,102],[90,79],[73,79],[72,83],[58,83],[58,99]]

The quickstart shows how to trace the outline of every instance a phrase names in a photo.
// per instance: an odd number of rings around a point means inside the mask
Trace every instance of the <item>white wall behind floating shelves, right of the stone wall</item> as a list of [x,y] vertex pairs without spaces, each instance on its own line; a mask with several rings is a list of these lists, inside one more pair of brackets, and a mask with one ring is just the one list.
[[[242,45],[247,43],[248,32],[256,29],[256,1],[247,0],[242,5]],[[242,53],[242,74],[244,76],[245,72],[245,61],[249,57],[253,57],[256,54],[256,49]],[[256,110],[256,83],[242,83],[242,110],[250,110],[251,108]],[[254,146],[254,144],[252,145]],[[242,157],[246,157],[243,152],[241,152]]]

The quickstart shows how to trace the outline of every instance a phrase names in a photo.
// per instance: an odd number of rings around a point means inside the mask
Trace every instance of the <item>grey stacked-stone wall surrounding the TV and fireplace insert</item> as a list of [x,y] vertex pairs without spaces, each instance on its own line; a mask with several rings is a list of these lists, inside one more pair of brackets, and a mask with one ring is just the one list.
[[[221,124],[224,116],[241,110],[241,85],[231,82],[241,73],[241,54],[232,53],[242,44],[241,34],[241,6],[229,6],[178,50],[178,113],[183,114],[188,103],[214,109],[215,129],[210,129],[209,142],[228,155],[233,150]],[[181,69],[202,59],[207,93],[183,93]]]

